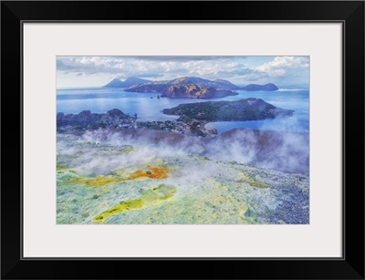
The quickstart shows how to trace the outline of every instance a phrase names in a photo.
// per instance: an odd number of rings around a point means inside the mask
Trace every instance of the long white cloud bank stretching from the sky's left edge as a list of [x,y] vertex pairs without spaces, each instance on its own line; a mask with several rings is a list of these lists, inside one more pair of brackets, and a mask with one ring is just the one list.
[[[157,59],[159,58],[159,59]],[[120,78],[130,76],[172,78],[175,76],[198,75],[210,78],[222,78],[219,75],[235,75],[247,72],[244,64],[233,62],[233,57],[169,57],[162,60],[143,59],[143,57],[57,57],[57,70],[84,72],[85,74],[119,74]],[[244,59],[241,57],[238,59]],[[190,59],[190,60],[189,60]]]

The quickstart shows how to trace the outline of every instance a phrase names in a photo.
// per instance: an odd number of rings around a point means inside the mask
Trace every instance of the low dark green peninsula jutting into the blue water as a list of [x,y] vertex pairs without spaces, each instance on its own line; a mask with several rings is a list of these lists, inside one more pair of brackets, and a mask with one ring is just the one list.
[[162,111],[167,115],[182,116],[181,119],[205,121],[274,119],[293,114],[293,110],[276,108],[263,99],[253,98],[180,104],[175,108],[163,109]]

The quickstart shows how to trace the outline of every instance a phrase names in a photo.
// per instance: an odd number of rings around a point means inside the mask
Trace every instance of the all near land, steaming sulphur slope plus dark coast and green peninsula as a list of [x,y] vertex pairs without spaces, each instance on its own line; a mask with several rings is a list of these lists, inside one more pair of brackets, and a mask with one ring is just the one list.
[[308,133],[204,129],[292,112],[242,99],[180,105],[173,121],[58,113],[57,224],[308,224]]

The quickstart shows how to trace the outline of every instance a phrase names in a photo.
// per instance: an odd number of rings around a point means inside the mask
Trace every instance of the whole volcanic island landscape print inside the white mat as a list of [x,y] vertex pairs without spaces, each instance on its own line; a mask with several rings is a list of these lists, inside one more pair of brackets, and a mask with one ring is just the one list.
[[57,57],[57,224],[308,224],[308,67]]

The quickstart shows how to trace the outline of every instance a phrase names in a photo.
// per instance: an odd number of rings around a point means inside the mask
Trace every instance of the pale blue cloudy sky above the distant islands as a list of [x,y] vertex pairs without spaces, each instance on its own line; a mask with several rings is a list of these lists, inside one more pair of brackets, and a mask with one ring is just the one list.
[[309,57],[57,57],[57,88],[101,87],[113,78],[183,76],[308,88]]

